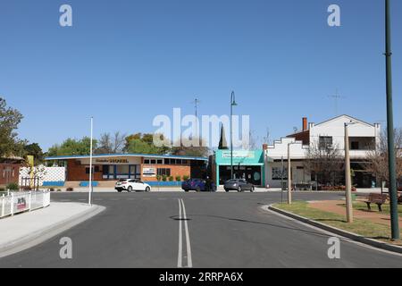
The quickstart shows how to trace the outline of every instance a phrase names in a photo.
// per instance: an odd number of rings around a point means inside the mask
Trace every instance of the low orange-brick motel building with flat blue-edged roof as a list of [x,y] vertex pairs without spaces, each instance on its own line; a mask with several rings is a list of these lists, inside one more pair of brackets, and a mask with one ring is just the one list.
[[[89,156],[47,157],[46,161],[66,167],[66,181],[88,181]],[[202,178],[208,159],[191,156],[163,156],[143,154],[94,155],[93,180],[116,181],[139,179],[157,181],[157,175],[176,180],[180,176]]]

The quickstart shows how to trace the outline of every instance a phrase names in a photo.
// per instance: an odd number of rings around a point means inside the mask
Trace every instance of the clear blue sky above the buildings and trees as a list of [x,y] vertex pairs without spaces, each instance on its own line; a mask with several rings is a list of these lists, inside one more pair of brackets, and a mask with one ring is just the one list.
[[[0,95],[44,149],[68,137],[154,131],[173,107],[237,114],[271,139],[336,113],[385,124],[383,0],[1,0]],[[395,124],[402,124],[402,1],[393,0]],[[71,4],[73,26],[59,25]],[[341,27],[327,24],[339,4]]]

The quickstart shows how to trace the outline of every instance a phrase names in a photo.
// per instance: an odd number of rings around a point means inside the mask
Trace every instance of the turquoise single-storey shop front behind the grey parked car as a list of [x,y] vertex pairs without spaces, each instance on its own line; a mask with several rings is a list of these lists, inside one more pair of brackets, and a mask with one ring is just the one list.
[[[233,150],[233,177],[246,179],[255,186],[265,185],[264,151]],[[230,150],[215,153],[216,184],[230,180]]]

